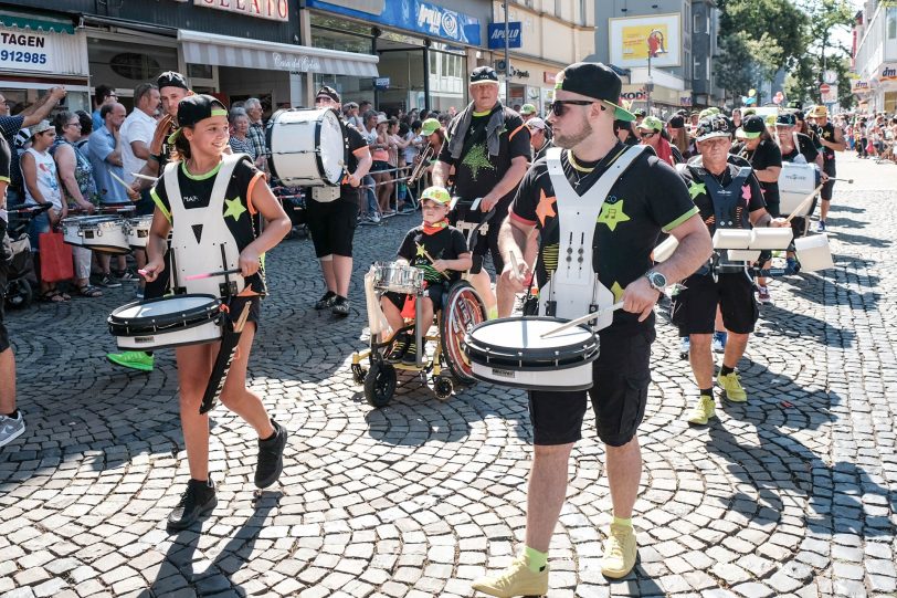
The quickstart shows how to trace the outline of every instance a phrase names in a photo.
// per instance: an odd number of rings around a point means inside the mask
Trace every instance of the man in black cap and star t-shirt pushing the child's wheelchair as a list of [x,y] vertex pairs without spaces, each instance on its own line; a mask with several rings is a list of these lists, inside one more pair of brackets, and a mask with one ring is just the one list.
[[[461,201],[451,217],[453,223],[481,221],[482,213],[471,210],[477,198],[482,198],[481,212],[495,210],[492,222],[486,224],[488,231],[474,246],[471,282],[486,302],[489,317],[505,317],[514,308],[514,293],[498,285],[496,301],[489,275],[483,270],[483,258],[488,251],[495,273],[502,273],[505,264],[498,252],[498,228],[507,216],[517,185],[526,174],[530,159],[529,129],[519,114],[498,102],[498,75],[492,67],[474,69],[469,91],[473,102],[452,119],[446,130],[445,143],[433,168],[433,185],[446,187],[454,167],[451,191]],[[460,228],[464,231],[463,224]]]

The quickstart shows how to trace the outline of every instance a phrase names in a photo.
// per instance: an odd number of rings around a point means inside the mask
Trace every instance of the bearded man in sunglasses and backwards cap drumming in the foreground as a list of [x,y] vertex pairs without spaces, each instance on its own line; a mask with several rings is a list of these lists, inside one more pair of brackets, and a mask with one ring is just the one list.
[[[675,170],[645,146],[626,146],[614,135],[615,118],[634,119],[618,106],[620,77],[603,64],[580,62],[564,69],[556,81],[549,123],[557,147],[524,177],[502,227],[505,263],[516,261],[519,266],[515,271],[506,265],[502,280],[515,290],[524,287],[529,269],[521,259],[523,249],[538,229],[540,313],[570,317],[561,307],[568,313],[581,310],[578,315],[589,313],[593,288],[599,286],[605,291],[594,301],[597,308],[623,303],[622,311],[602,312],[599,317],[601,346],[612,349],[602,350],[594,361],[594,385],[588,391],[598,437],[605,445],[613,502],[602,573],[620,578],[632,570],[637,552],[632,511],[642,458],[635,434],[651,381],[654,304],[665,286],[707,260],[710,238]],[[651,252],[661,231],[678,239],[679,245],[653,269]],[[568,292],[571,285],[562,287],[562,281],[577,276],[578,269],[588,275],[580,273],[583,284]],[[548,591],[548,545],[563,506],[570,451],[581,438],[588,402],[584,390],[529,392],[535,451],[526,546],[509,568],[476,580],[474,589],[499,597]]]

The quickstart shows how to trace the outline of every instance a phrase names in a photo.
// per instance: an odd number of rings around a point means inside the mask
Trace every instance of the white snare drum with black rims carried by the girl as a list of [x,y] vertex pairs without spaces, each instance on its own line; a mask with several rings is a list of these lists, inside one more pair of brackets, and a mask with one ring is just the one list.
[[175,295],[128,303],[107,319],[118,348],[161,349],[221,339],[221,300]]

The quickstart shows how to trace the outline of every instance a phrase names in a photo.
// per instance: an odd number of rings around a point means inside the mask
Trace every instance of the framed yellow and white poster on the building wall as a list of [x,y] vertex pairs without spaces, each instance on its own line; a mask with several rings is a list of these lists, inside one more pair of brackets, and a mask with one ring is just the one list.
[[678,13],[608,19],[611,63],[623,69],[678,66],[682,21]]

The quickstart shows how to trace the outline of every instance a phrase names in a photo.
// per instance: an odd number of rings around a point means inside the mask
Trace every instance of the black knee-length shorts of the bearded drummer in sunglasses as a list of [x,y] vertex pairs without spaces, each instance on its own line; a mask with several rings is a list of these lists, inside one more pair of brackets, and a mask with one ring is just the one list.
[[592,388],[573,392],[529,391],[529,418],[536,444],[569,444],[582,438],[587,392],[592,400],[598,438],[604,444],[622,447],[635,437],[647,405],[654,328],[599,336],[601,355],[592,364]]

